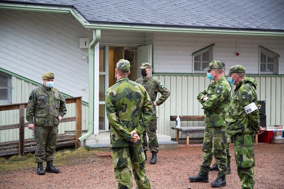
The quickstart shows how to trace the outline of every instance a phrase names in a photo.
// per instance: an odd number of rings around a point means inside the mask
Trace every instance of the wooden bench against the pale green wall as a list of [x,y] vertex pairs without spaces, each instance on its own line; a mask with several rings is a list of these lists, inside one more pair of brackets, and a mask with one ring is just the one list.
[[[170,116],[171,121],[176,121],[177,116]],[[179,116],[180,121],[204,121],[204,116]],[[177,131],[176,141],[179,141],[179,131],[186,135],[186,146],[189,146],[189,134],[203,134],[205,127],[172,127]]]

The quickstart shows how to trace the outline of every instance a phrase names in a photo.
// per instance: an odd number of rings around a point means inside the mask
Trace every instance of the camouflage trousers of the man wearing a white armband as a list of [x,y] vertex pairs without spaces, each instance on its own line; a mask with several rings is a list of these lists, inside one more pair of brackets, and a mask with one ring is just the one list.
[[253,189],[254,145],[253,133],[233,135],[235,159],[242,188]]

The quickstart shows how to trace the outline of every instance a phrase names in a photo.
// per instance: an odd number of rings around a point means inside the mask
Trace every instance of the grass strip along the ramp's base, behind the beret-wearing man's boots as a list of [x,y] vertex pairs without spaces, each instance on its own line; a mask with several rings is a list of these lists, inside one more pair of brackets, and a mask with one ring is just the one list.
[[[76,159],[83,158],[88,154],[94,154],[94,151],[89,151],[88,148],[80,147],[72,150],[60,150],[54,153],[54,165],[64,165],[69,162],[74,162]],[[45,163],[44,163],[45,164]],[[0,158],[0,171],[16,170],[37,167],[34,154],[27,153],[24,156],[13,155],[8,159]]]

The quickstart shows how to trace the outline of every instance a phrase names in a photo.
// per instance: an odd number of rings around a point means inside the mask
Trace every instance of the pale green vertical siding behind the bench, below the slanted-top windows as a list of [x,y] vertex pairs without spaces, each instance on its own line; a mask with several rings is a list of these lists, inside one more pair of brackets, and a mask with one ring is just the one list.
[[[170,90],[169,99],[160,107],[158,111],[158,130],[164,135],[170,135],[176,138],[176,131],[171,127],[175,122],[170,121],[170,116],[202,116],[201,105],[197,101],[197,94],[208,84],[209,79],[206,76],[164,76],[154,75],[161,80]],[[257,85],[258,101],[265,101],[266,105],[266,124],[279,125],[284,124],[284,99],[281,94],[284,92],[284,77],[252,77]],[[181,122],[181,127],[204,126],[202,121]],[[186,136],[180,136],[185,138]],[[203,135],[190,135],[190,138],[199,138]]]

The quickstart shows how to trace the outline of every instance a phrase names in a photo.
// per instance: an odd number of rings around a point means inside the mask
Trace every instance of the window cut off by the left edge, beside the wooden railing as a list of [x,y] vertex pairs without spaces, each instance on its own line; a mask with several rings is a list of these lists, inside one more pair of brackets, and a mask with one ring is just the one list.
[[0,104],[11,103],[11,75],[0,71]]

